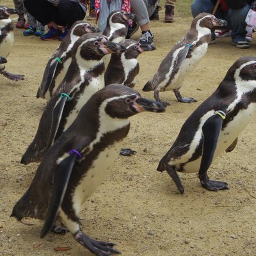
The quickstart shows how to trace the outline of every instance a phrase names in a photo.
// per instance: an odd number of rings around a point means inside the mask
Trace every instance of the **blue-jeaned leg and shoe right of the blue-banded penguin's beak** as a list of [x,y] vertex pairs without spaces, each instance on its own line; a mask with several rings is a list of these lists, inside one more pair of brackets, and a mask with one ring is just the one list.
[[[239,48],[248,48],[250,45],[246,43],[246,15],[250,9],[250,5],[246,4],[241,9],[230,9],[228,10],[228,15],[227,15],[227,22],[230,28],[232,29],[231,31],[231,40],[232,44],[237,45]],[[242,42],[241,44],[237,44],[238,42]]]

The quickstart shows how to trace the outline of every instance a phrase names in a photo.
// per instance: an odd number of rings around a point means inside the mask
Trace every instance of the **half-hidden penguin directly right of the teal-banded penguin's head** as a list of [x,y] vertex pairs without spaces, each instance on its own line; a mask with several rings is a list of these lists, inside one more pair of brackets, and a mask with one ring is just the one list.
[[124,84],[134,88],[136,76],[140,72],[140,65],[137,60],[141,52],[153,51],[154,45],[141,45],[131,39],[121,41],[126,47],[126,51],[120,54],[111,54],[110,62],[104,74],[105,86],[112,83]]

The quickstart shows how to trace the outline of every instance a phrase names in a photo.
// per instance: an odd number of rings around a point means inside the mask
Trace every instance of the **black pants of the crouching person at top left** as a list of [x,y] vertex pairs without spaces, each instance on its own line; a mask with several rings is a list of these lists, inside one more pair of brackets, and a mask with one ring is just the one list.
[[53,6],[46,0],[25,0],[24,6],[43,25],[54,21],[60,26],[71,27],[85,16],[80,4],[70,0],[62,0],[58,6]]

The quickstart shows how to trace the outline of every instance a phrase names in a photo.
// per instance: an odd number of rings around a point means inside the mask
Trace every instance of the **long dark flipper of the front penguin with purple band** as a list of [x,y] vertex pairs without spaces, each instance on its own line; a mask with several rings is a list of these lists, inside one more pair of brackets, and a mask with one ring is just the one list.
[[58,209],[63,201],[67,190],[68,181],[72,173],[74,164],[76,163],[76,154],[70,154],[58,164],[58,168],[54,171],[52,194],[49,207],[45,217],[44,226],[42,227],[40,237],[44,237],[52,227],[54,220],[58,215]]

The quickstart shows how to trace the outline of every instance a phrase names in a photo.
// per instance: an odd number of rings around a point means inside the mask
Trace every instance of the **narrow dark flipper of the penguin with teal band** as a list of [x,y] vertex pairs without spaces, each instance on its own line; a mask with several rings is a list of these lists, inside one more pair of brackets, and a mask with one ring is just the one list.
[[54,143],[55,141],[56,134],[60,126],[63,109],[65,108],[66,102],[67,102],[67,97],[61,97],[61,99],[54,106],[54,109],[52,111],[52,124],[51,124],[51,130],[49,132],[49,140],[48,140],[47,148],[51,147],[52,143]]

